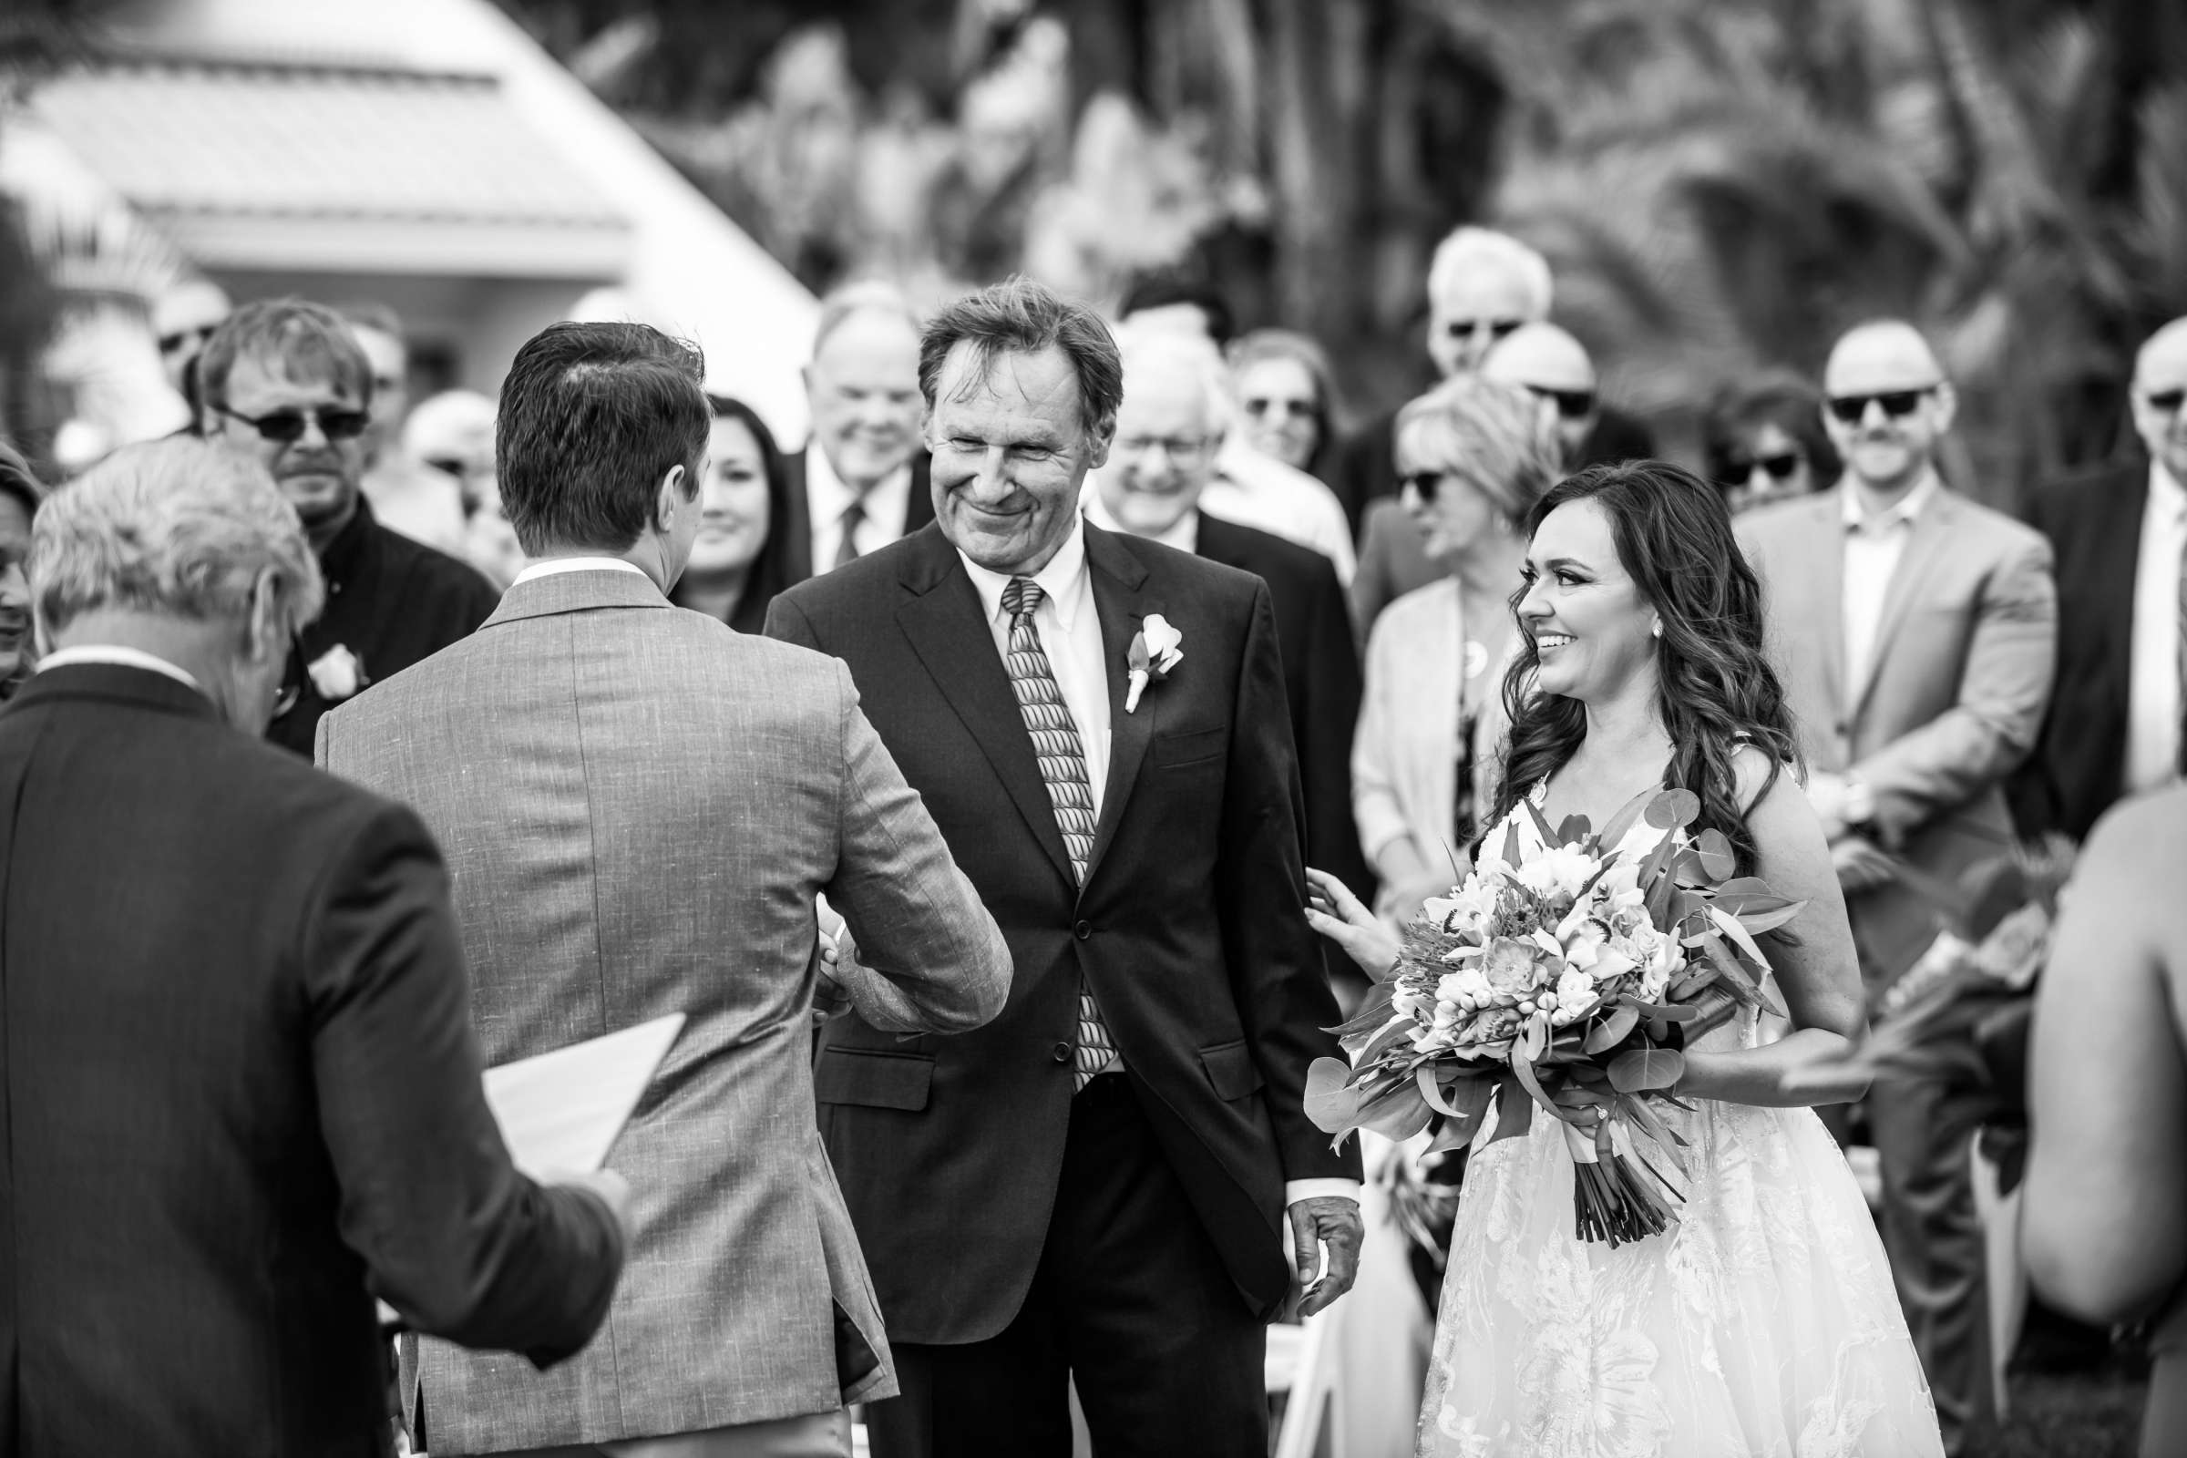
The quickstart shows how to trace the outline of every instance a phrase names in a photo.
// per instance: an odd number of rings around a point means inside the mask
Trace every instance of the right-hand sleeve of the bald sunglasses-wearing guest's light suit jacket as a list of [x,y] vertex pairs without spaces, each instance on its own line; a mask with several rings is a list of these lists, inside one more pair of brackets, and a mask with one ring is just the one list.
[[1852,765],[1896,842],[2001,783],[2043,730],[2058,671],[2058,588],[2049,542],[2021,544],[1984,581],[1960,669],[1960,702]]

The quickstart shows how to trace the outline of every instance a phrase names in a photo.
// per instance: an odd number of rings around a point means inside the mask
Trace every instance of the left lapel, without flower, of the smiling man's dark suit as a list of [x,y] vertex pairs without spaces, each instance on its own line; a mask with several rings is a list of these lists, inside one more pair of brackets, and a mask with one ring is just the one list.
[[1048,800],[1041,765],[1032,756],[1017,695],[1010,693],[1010,675],[995,654],[995,636],[980,610],[980,592],[940,531],[919,536],[914,549],[903,571],[903,586],[912,590],[912,599],[897,608],[897,625],[949,708],[980,743],[980,752],[986,754],[995,778],[1002,780],[1032,837],[1041,842],[1056,874],[1069,881],[1069,853],[1063,848],[1063,833],[1056,828],[1056,811]]

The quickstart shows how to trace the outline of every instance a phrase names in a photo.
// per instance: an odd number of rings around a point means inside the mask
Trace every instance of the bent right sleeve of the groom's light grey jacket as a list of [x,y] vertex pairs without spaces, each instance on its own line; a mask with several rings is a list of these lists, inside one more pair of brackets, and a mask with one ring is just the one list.
[[[770,623],[772,627],[772,623]],[[842,831],[827,898],[857,957],[838,981],[884,1032],[969,1032],[1010,997],[1010,949],[835,662]]]

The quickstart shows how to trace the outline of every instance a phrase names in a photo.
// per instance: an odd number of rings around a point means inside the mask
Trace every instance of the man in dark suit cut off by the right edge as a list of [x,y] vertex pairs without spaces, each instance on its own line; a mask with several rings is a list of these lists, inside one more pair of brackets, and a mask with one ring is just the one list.
[[2030,525],[2058,571],[2058,689],[2014,780],[2023,833],[2073,839],[2121,796],[2180,774],[2187,719],[2187,319],[2135,356],[2130,404],[2148,459],[2036,494]]

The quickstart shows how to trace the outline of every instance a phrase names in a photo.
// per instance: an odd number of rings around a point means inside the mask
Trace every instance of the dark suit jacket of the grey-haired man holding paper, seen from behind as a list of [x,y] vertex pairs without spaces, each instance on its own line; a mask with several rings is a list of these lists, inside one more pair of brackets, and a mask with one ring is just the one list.
[[372,1301],[571,1355],[621,1235],[516,1174],[418,818],[149,669],[0,713],[0,1449],[385,1454]]

